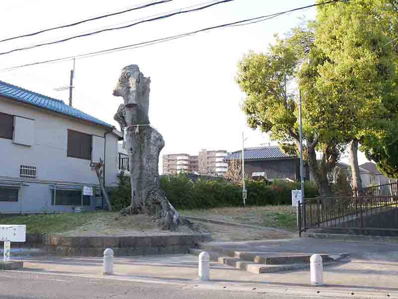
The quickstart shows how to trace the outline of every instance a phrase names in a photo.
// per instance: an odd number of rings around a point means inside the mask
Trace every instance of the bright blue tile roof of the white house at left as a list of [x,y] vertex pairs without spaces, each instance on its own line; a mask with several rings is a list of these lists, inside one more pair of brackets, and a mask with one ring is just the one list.
[[106,127],[112,127],[112,125],[95,118],[87,113],[84,113],[76,108],[73,108],[64,103],[62,100],[53,99],[47,96],[43,96],[23,88],[17,87],[0,81],[0,96],[19,100],[21,102],[29,103],[41,108],[45,108],[51,111],[69,115],[72,117],[87,120],[96,124],[100,124]]

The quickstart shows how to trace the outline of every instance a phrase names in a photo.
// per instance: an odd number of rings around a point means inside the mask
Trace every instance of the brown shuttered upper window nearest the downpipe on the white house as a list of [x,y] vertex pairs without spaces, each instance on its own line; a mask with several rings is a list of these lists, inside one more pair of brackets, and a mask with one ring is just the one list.
[[91,160],[92,136],[68,130],[68,157]]

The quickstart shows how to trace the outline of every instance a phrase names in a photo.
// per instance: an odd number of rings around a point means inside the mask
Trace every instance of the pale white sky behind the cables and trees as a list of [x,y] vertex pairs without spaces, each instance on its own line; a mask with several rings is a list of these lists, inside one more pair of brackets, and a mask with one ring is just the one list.
[[[116,24],[128,24],[136,19],[208,1],[173,0],[78,26],[2,42],[0,51],[114,27]],[[1,39],[153,1],[2,2]],[[233,0],[122,30],[0,55],[0,69],[135,44],[313,3],[314,0]],[[120,70],[124,66],[137,64],[144,76],[151,78],[149,117],[166,142],[161,155],[195,155],[204,148],[239,150],[242,147],[242,132],[247,138],[245,147],[268,144],[270,140],[266,134],[246,125],[241,111],[245,95],[235,82],[238,61],[250,50],[266,52],[269,44],[275,41],[275,34],[284,36],[301,22],[301,17],[309,20],[315,15],[315,8],[308,8],[256,24],[221,28],[148,47],[77,59],[73,106],[119,128],[113,115],[122,99],[113,97],[112,91]],[[0,72],[0,80],[68,103],[69,92],[55,89],[69,85],[72,66],[72,61],[64,61],[25,67]],[[342,161],[349,162],[347,157],[343,157]],[[359,153],[359,162],[367,162],[362,153]]]

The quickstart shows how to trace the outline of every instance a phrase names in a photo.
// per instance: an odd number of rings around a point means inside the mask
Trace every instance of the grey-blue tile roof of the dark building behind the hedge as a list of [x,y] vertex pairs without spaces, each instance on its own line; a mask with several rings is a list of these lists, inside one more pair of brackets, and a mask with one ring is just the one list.
[[[293,159],[295,156],[284,153],[279,146],[251,147],[245,149],[245,160]],[[240,160],[242,151],[236,151],[225,157],[224,160]]]

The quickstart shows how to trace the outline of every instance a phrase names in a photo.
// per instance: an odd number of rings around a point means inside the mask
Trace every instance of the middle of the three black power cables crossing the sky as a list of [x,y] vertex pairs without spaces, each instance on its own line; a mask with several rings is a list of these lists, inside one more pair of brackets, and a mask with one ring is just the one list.
[[132,27],[132,26],[135,26],[135,25],[138,25],[138,24],[151,22],[151,21],[157,21],[157,20],[160,20],[160,19],[164,19],[164,18],[168,18],[168,17],[174,16],[174,15],[177,15],[177,14],[183,14],[183,13],[198,11],[198,10],[202,10],[202,9],[214,6],[214,5],[218,5],[218,4],[225,3],[225,2],[230,2],[230,1],[234,1],[234,0],[220,0],[220,1],[215,2],[215,3],[211,3],[211,4],[204,5],[204,6],[200,6],[198,8],[187,9],[187,10],[179,10],[179,11],[176,11],[176,12],[173,12],[173,13],[168,13],[168,14],[165,14],[165,15],[161,15],[161,16],[158,16],[158,17],[151,18],[151,19],[138,21],[138,22],[135,22],[135,23],[132,23],[132,24],[128,24],[128,25],[125,25],[125,26],[102,29],[102,30],[98,30],[98,31],[90,32],[90,33],[85,33],[85,34],[71,36],[71,37],[60,39],[60,40],[57,40],[57,41],[37,44],[37,45],[30,46],[30,47],[17,48],[17,49],[13,49],[13,50],[10,50],[10,51],[2,52],[2,53],[0,53],[0,55],[10,54],[12,52],[33,49],[33,48],[42,47],[42,46],[46,46],[46,45],[62,43],[62,42],[65,42],[65,41],[68,41],[68,40],[71,40],[71,39],[80,38],[80,37],[86,37],[86,36],[98,34],[98,33],[101,33],[101,32],[125,29],[125,28],[129,28],[129,27]]

